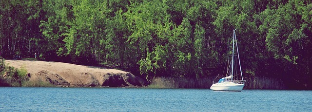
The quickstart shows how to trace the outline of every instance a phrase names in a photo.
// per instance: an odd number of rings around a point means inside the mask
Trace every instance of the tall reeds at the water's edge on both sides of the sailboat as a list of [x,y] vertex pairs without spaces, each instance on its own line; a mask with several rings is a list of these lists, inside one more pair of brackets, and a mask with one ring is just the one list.
[[[151,81],[149,88],[210,88],[213,78],[157,77]],[[244,89],[287,89],[281,79],[267,77],[249,78]]]

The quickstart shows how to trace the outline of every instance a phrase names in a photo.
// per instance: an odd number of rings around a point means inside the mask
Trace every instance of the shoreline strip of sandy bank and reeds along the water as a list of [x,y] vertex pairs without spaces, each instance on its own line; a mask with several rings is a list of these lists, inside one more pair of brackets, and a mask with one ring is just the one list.
[[[39,60],[5,60],[5,62],[15,68],[24,66],[27,69],[26,76],[29,80],[23,81],[26,84],[22,87],[210,89],[212,85],[212,79],[208,77],[200,79],[157,77],[148,83],[139,76],[116,69]],[[282,81],[255,77],[248,79],[244,90],[309,89],[289,89]]]

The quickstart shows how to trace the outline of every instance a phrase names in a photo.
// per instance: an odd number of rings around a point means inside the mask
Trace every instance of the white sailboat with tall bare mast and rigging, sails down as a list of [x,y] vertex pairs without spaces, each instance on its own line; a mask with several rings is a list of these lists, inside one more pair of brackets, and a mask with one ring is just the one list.
[[[217,83],[213,82],[213,85],[210,87],[213,91],[237,91],[240,92],[243,90],[246,80],[243,79],[242,69],[240,65],[237,40],[235,35],[235,30],[233,30],[233,47],[232,47],[232,60],[229,59],[228,71],[226,77],[219,79]],[[236,45],[235,45],[236,44]],[[234,47],[235,45],[235,47]],[[236,50],[234,50],[236,49]],[[236,51],[236,53],[234,53]],[[237,58],[238,64],[237,66]],[[239,69],[238,69],[239,67]],[[240,76],[237,71],[240,71]]]

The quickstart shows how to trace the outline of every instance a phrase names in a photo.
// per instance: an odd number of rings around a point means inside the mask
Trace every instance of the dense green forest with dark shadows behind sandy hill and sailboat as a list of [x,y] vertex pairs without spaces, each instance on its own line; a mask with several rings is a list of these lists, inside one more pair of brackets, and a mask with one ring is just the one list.
[[236,29],[245,79],[312,89],[311,0],[0,0],[0,50],[139,75],[215,78]]

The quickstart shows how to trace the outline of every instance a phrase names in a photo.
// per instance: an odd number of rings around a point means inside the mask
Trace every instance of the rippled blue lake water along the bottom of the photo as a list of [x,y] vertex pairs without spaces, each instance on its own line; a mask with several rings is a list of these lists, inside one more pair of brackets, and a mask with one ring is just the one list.
[[0,112],[312,112],[312,91],[0,87]]

